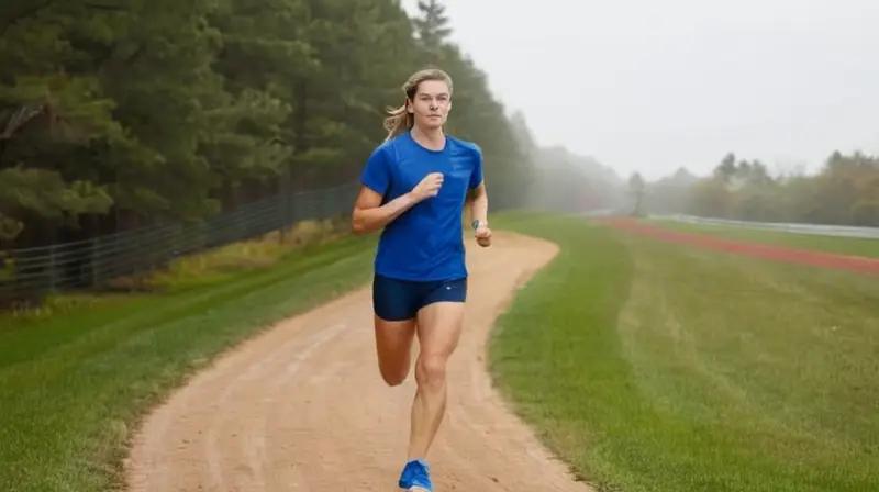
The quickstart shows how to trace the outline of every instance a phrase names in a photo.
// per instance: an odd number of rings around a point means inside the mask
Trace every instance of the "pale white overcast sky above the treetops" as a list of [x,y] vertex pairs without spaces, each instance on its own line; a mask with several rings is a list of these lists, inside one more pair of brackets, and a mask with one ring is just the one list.
[[703,174],[728,150],[810,170],[834,149],[879,154],[879,0],[445,4],[541,144],[623,175]]

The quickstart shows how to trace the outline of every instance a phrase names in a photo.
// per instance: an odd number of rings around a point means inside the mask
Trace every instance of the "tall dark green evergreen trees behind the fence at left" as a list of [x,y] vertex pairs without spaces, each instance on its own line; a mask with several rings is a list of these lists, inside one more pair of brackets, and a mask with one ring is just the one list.
[[437,0],[3,2],[0,250],[352,182],[426,66],[493,206],[518,204],[527,149],[448,24]]

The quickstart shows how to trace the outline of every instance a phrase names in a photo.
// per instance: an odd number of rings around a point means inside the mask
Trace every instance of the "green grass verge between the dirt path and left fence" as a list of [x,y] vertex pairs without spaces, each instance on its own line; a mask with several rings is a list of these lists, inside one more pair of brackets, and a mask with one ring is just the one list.
[[315,245],[270,268],[224,268],[163,293],[0,316],[0,483],[121,484],[133,425],[186,376],[268,324],[365,284],[375,238]]

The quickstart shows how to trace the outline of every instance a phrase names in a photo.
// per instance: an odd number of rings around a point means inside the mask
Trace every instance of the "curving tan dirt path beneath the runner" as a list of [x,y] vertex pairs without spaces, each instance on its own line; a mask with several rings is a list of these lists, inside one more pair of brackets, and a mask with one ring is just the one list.
[[[489,249],[468,245],[466,327],[430,456],[438,492],[588,490],[505,411],[483,369],[492,321],[556,251],[510,234]],[[146,420],[130,490],[397,491],[414,381],[386,387],[374,343],[360,290],[243,344]]]

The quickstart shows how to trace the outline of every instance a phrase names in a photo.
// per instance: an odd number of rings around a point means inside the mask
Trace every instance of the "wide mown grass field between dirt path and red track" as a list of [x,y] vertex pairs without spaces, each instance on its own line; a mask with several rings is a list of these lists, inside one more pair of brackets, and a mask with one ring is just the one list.
[[493,223],[563,253],[499,320],[491,371],[598,490],[879,490],[874,278]]

